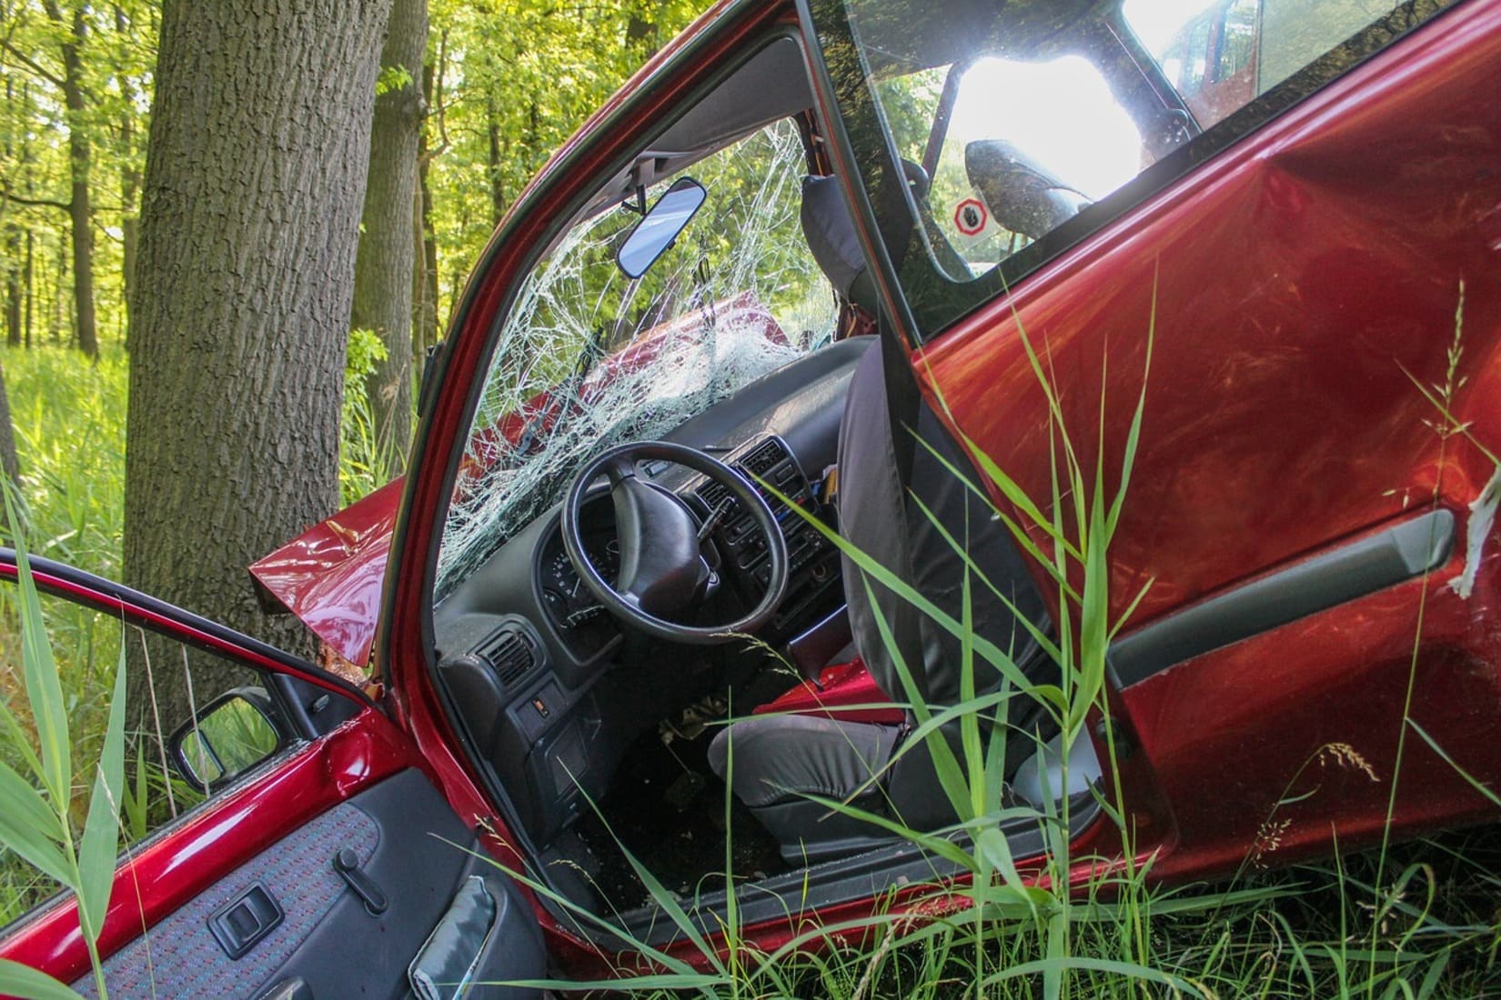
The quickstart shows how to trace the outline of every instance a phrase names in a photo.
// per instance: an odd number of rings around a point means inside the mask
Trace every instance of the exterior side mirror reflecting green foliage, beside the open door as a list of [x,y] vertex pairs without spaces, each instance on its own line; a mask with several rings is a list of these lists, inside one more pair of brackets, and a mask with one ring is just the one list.
[[275,715],[261,688],[221,694],[167,739],[173,768],[195,789],[213,790],[281,748]]

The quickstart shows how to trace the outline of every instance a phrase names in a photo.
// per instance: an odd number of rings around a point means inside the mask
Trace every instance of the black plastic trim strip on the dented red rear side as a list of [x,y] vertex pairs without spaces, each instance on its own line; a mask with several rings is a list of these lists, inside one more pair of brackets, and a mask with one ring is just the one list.
[[1109,651],[1118,687],[1411,580],[1448,561],[1454,514],[1435,510],[1141,628]]

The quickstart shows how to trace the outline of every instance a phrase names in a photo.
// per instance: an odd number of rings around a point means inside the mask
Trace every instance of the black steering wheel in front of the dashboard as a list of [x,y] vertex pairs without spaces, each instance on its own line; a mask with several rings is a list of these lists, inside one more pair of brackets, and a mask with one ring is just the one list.
[[[699,523],[681,499],[636,475],[636,465],[672,462],[708,477],[729,490],[766,535],[772,576],[766,595],[749,613],[723,625],[680,625],[662,615],[701,600],[713,583],[713,570],[699,550]],[[611,586],[584,552],[579,513],[588,487],[609,478],[620,541],[620,574]],[[620,621],[648,636],[671,642],[711,645],[732,642],[772,618],[787,591],[787,540],[776,516],[743,475],[698,448],[666,441],[632,441],[599,454],[573,478],[563,501],[563,547],[584,586]]]

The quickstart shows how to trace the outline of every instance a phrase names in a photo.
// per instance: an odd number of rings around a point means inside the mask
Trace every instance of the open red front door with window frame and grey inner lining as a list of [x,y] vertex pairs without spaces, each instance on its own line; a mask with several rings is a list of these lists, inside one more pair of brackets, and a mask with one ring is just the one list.
[[[300,705],[300,718],[282,720],[285,732],[300,733],[294,742],[120,858],[99,937],[111,994],[255,996],[300,982],[300,996],[407,996],[408,964],[474,879],[491,904],[491,933],[458,940],[476,952],[468,957],[474,979],[545,973],[530,901],[482,858],[474,828],[434,787],[414,742],[363,691],[128,588],[47,559],[32,565],[44,592],[273,672],[261,676],[282,694],[296,678],[299,705],[308,700],[305,685],[323,690],[311,708]],[[8,550],[0,576],[15,577]],[[333,727],[320,733],[324,723]],[[341,850],[354,855],[353,879],[335,868]],[[383,912],[366,910],[351,886],[359,879],[386,898]],[[279,918],[231,958],[221,939],[233,945],[237,934],[216,936],[210,925],[252,889]],[[230,930],[246,931],[245,916],[228,919]],[[86,996],[95,988],[71,895],[8,927],[0,957],[74,982]]]

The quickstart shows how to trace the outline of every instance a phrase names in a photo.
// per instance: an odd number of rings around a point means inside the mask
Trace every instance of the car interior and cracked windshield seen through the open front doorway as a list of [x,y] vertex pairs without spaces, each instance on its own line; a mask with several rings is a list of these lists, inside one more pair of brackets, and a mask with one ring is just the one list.
[[[973,466],[905,364],[887,363],[812,108],[800,43],[769,40],[561,228],[494,334],[444,523],[432,633],[456,729],[533,874],[638,930],[653,906],[632,859],[701,913],[757,886],[746,919],[788,894],[818,904],[940,874],[815,798],[920,831],[956,823],[926,748],[899,751],[902,705],[961,700],[959,642],[835,532],[955,618],[970,552],[989,582],[979,637],[1016,664],[982,691],[1057,670],[1015,541],[979,478],[952,472]],[[925,205],[923,168],[905,171]],[[684,177],[702,208],[648,271],[623,274],[633,223]],[[952,247],[938,256],[968,273]],[[620,447],[635,441],[666,445]],[[884,709],[785,711],[856,660]],[[1010,705],[1004,795],[1027,786],[1042,805],[1064,793],[1028,757],[1048,720]],[[1067,793],[1082,825],[1099,769],[1081,744]]]

